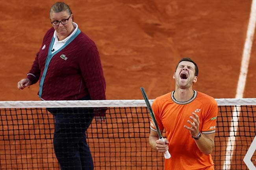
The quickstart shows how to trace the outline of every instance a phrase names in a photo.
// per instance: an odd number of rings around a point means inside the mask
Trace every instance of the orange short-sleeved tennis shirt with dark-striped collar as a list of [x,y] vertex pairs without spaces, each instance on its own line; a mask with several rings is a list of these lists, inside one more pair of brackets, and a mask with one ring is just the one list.
[[[194,112],[200,119],[200,132],[214,133],[217,102],[213,97],[198,91],[194,91],[193,97],[187,102],[176,101],[173,94],[174,91],[157,97],[152,103],[158,126],[161,131],[165,129],[169,141],[171,158],[165,159],[165,170],[214,170],[211,155],[205,155],[198,149],[195,139],[184,125],[191,126],[187,120],[191,121],[189,117]],[[152,120],[150,128],[155,130]]]

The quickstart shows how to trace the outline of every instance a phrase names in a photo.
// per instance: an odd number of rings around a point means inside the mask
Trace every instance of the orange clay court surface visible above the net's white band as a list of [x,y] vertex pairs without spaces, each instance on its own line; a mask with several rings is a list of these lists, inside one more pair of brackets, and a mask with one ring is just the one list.
[[[34,101],[38,83],[17,82],[30,70],[51,27],[53,0],[1,0],[0,101]],[[174,89],[182,57],[197,62],[195,90],[235,98],[251,0],[66,0],[81,31],[95,41],[107,82],[107,99],[150,99]],[[256,97],[256,44],[244,98]]]

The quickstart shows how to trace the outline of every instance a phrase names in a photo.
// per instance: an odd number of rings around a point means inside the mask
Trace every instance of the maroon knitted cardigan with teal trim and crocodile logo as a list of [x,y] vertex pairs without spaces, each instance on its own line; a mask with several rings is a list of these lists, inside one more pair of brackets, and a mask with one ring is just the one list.
[[55,51],[47,64],[53,34],[52,27],[46,32],[27,75],[32,84],[38,80],[42,84],[39,97],[43,100],[78,100],[89,95],[91,100],[105,100],[106,81],[95,43],[81,32],[65,48]]

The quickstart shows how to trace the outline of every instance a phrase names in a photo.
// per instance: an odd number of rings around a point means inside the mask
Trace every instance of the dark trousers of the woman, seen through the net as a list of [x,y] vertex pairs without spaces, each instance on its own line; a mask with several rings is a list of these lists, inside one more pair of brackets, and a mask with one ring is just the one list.
[[61,170],[93,170],[85,131],[94,113],[92,108],[48,108],[54,115],[54,151]]

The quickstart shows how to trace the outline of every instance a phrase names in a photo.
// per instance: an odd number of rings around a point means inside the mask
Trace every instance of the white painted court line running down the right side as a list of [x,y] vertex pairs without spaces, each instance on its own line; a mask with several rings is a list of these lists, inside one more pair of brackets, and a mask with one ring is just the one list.
[[[245,40],[245,45],[243,48],[243,57],[241,62],[241,68],[240,68],[240,75],[239,80],[237,84],[237,90],[236,90],[236,98],[243,98],[243,92],[245,90],[245,82],[247,78],[247,72],[248,72],[248,66],[250,61],[250,53],[252,49],[252,41],[254,37],[254,30],[255,30],[255,23],[256,23],[256,0],[252,0],[251,5],[251,11],[250,11],[250,19],[248,23],[248,29],[247,29],[247,35]],[[239,130],[238,128],[238,117],[240,117],[241,114],[241,108],[233,108],[232,113],[232,123],[230,124],[230,130],[229,130],[229,141],[227,142],[226,147],[226,157],[225,162],[223,165],[223,169],[230,170],[231,168],[231,160],[233,155],[232,146],[235,147],[236,142],[236,133]],[[234,123],[233,123],[234,122]]]

